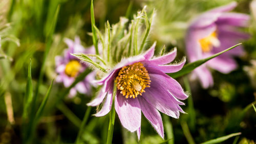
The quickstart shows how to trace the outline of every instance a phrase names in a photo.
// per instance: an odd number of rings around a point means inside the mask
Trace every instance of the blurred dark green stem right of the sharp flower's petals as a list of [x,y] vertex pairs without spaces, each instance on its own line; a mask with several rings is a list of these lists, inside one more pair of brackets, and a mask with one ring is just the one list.
[[189,125],[190,125],[191,129],[194,131],[195,127],[196,127],[196,111],[194,109],[193,98],[191,95],[188,78],[186,76],[184,76],[183,81],[184,81],[184,85],[185,85],[185,90],[190,93],[189,97],[187,98],[188,112],[189,112]]

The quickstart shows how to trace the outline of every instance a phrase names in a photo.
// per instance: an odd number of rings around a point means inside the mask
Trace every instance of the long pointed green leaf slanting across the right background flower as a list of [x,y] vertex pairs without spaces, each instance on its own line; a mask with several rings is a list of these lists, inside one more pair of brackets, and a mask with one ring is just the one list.
[[168,73],[169,76],[173,77],[173,78],[178,78],[180,76],[183,76],[185,74],[188,74],[189,72],[193,71],[194,69],[196,69],[197,67],[201,66],[202,64],[204,64],[206,61],[212,59],[212,58],[215,58],[219,55],[221,55],[222,53],[224,52],[227,52],[233,48],[236,48],[237,46],[241,45],[242,43],[240,44],[237,44],[237,45],[234,45],[224,51],[221,51],[219,53],[216,53],[212,56],[209,56],[207,58],[204,58],[204,59],[200,59],[200,60],[197,60],[197,61],[194,61],[193,63],[189,63],[187,65],[185,65],[179,72],[176,72],[176,73]]

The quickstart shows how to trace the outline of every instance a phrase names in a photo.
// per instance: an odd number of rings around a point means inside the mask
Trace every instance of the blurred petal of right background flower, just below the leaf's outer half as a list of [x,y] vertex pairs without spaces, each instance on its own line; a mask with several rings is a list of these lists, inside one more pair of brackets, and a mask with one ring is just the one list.
[[207,61],[207,66],[215,69],[221,73],[229,73],[237,68],[237,63],[234,59],[229,57],[215,57]]

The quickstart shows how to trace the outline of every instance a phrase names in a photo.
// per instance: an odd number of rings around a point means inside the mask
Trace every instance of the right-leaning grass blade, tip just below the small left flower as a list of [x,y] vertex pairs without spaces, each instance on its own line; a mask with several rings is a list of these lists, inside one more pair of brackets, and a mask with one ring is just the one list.
[[46,93],[46,95],[45,95],[45,97],[44,97],[44,100],[42,100],[42,103],[41,103],[39,109],[38,109],[37,112],[36,112],[36,115],[35,115],[35,124],[37,123],[37,121],[39,120],[39,118],[41,117],[41,115],[43,114],[43,112],[44,112],[44,110],[45,110],[45,106],[46,106],[47,100],[48,100],[49,95],[50,95],[51,90],[52,90],[53,81],[54,81],[54,79],[52,80],[52,83],[51,83],[51,85],[50,85],[50,87],[49,87],[49,89],[48,89],[48,91],[47,91],[47,93]]

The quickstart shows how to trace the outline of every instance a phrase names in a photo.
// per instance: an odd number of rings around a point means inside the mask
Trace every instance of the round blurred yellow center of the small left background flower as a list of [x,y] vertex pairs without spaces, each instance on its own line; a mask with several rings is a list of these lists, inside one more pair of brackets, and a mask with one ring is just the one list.
[[81,64],[77,60],[71,60],[69,63],[66,65],[65,68],[65,73],[69,77],[75,77],[77,76],[79,70],[81,69]]

